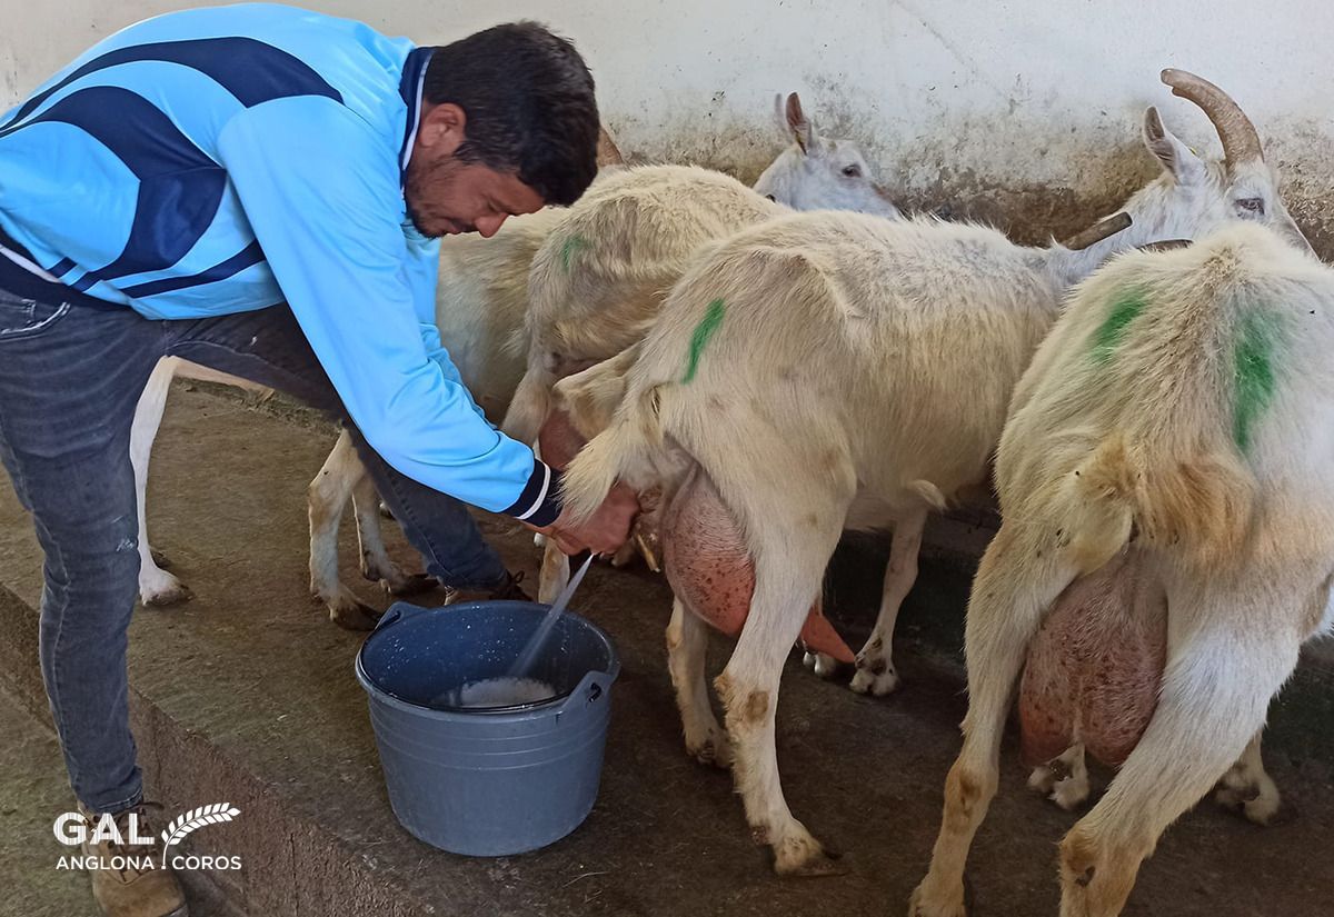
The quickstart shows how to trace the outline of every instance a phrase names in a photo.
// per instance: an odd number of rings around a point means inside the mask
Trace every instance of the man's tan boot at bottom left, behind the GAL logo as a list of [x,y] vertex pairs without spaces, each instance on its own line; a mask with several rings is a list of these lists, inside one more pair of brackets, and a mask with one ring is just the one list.
[[[89,869],[92,897],[105,917],[187,917],[185,894],[171,868],[163,865],[161,838],[149,824],[148,809],[160,809],[155,802],[140,802],[115,816],[121,838],[129,837],[129,813],[139,816],[139,836],[152,837],[148,844],[117,844],[104,840],[92,844],[84,840],[83,853],[95,858],[97,868]],[[79,806],[92,828],[100,814]]]

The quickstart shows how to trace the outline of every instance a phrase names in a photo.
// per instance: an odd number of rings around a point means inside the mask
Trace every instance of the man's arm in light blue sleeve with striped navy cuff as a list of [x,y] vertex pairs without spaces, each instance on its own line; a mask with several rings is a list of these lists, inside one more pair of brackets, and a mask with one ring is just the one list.
[[[219,156],[283,295],[371,447],[427,486],[538,526],[558,476],[495,431],[428,353],[399,225],[396,149],[328,99],[233,116]],[[436,359],[432,359],[436,357]],[[450,367],[452,369],[452,367]]]

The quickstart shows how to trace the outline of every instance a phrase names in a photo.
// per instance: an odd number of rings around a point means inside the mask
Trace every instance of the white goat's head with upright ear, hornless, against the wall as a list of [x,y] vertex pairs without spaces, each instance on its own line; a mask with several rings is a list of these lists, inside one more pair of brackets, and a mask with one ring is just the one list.
[[794,211],[856,211],[900,216],[888,193],[871,180],[871,167],[851,140],[822,137],[794,92],[776,99],[779,129],[792,144],[764,169],[755,191]]

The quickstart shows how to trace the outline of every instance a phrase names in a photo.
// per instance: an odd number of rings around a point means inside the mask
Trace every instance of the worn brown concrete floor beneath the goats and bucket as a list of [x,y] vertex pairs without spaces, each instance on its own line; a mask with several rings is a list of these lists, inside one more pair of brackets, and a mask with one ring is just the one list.
[[[894,697],[858,697],[818,681],[795,657],[790,664],[779,706],[787,798],[844,853],[847,874],[803,881],[768,872],[730,777],[682,750],[662,649],[666,585],[607,568],[590,574],[578,600],[578,610],[614,636],[624,665],[598,805],[575,834],[546,850],[470,860],[419,844],[394,821],[352,677],[360,638],[331,625],[307,596],[304,486],[332,432],[177,391],[159,443],[153,541],[196,598],[136,614],[131,672],[141,758],[169,801],[228,798],[243,810],[195,838],[201,850],[253,852],[240,877],[219,877],[252,917],[906,912],[926,869],[966,706],[956,645],[942,652],[935,638],[958,633],[966,573],[926,564],[900,625],[906,686]],[[515,566],[535,574],[522,530],[498,521],[487,529]],[[395,553],[410,560],[391,534]],[[344,556],[355,576],[350,538]],[[844,554],[840,566],[858,557]],[[0,616],[16,634],[0,646],[0,670],[11,690],[23,692],[24,708],[40,712],[31,610],[40,561],[8,488],[0,493],[0,584],[11,590],[8,600],[0,594]],[[834,616],[852,636],[874,617],[875,590],[866,586],[874,577],[863,580],[836,582]],[[358,588],[386,604],[368,584]],[[716,640],[715,672],[726,650]],[[0,896],[0,914],[88,913],[85,886],[43,873],[59,856],[51,818],[68,798],[55,745],[32,722],[0,706],[0,730],[20,737],[0,757],[0,813],[11,828],[0,861],[16,864],[0,868],[0,886],[27,896],[21,905]],[[1163,837],[1127,914],[1334,913],[1329,768],[1278,753],[1270,769],[1295,817],[1259,829],[1201,805]],[[1054,845],[1074,817],[1026,792],[1025,776],[1007,744],[1002,792],[970,861],[974,917],[1057,913]]]

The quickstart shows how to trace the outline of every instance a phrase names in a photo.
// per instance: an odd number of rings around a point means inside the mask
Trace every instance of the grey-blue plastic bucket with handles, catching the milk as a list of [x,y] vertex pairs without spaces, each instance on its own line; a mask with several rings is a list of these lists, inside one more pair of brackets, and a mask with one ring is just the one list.
[[555,697],[432,706],[467,681],[504,676],[546,610],[519,601],[396,602],[356,654],[394,814],[432,846],[524,853],[559,841],[592,809],[620,662],[590,621],[563,614],[531,672]]

